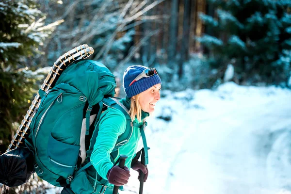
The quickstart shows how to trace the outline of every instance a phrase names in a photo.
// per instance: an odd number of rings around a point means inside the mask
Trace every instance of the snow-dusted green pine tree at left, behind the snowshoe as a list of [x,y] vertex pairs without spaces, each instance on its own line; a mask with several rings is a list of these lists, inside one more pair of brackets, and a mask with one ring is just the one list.
[[0,152],[7,149],[12,135],[31,104],[35,78],[28,71],[28,58],[50,31],[35,0],[0,2]]

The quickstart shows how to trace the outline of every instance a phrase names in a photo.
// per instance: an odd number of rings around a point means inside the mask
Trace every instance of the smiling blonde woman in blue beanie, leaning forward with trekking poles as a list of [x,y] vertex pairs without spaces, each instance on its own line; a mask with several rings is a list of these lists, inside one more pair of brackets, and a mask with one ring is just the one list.
[[[90,162],[94,169],[90,167],[87,170],[88,176],[96,181],[88,183],[87,186],[90,184],[91,186],[86,187],[78,181],[85,177],[77,175],[70,185],[74,193],[89,194],[94,187],[97,193],[112,194],[114,185],[123,186],[128,183],[130,167],[139,172],[140,181],[146,181],[147,146],[143,129],[146,126],[146,118],[155,111],[156,103],[160,100],[161,83],[155,68],[133,65],[125,70],[123,87],[126,97],[116,102],[127,113],[124,114],[120,109],[108,106],[100,115],[95,129],[98,131],[96,141],[91,140],[91,145],[94,147],[90,145],[89,148],[89,152],[92,152]],[[127,141],[120,142],[123,136],[128,136]],[[145,141],[143,154],[146,156],[142,154],[145,163],[138,161],[140,154],[136,154],[137,143],[141,136],[143,142]],[[116,165],[119,155],[128,156],[124,168]],[[67,193],[72,193],[69,188],[62,191],[62,194]]]

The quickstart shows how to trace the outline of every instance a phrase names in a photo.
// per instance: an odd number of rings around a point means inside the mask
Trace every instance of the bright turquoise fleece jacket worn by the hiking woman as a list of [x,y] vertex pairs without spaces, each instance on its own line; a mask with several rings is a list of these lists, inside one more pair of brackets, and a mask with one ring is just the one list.
[[[120,102],[130,109],[130,99],[123,98]],[[102,118],[102,116],[105,116]],[[149,113],[145,113],[142,111],[142,120],[144,120]],[[94,145],[94,149],[91,155],[91,163],[97,170],[99,176],[107,180],[107,173],[113,167],[113,163],[110,159],[110,153],[113,151],[113,148],[116,144],[118,137],[125,132],[126,129],[126,118],[124,114],[114,108],[108,108],[104,111],[99,121],[99,131],[98,136],[96,138],[96,144]],[[142,124],[143,121],[138,122],[137,118],[133,121],[135,123]],[[118,154],[124,154],[128,156],[128,159],[125,162],[125,165],[130,169],[130,163],[133,157],[135,156],[137,144],[141,137],[141,133],[139,128],[134,127],[131,137],[129,138],[129,142],[124,146],[121,146],[118,149]],[[116,161],[116,159],[115,159]],[[113,186],[109,184],[108,186]]]

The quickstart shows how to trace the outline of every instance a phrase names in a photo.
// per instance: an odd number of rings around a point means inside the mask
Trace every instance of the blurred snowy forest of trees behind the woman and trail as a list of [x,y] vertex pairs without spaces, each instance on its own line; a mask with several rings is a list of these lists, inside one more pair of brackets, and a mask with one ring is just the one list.
[[0,153],[48,67],[82,44],[119,86],[136,64],[172,91],[291,87],[290,0],[2,0],[0,18]]

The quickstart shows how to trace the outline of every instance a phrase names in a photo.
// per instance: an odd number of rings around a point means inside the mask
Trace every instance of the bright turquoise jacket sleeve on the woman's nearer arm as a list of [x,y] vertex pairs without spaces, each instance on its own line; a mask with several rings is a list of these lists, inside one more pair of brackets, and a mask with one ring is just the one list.
[[[101,115],[102,116],[102,115]],[[99,131],[91,155],[91,163],[97,173],[107,180],[107,172],[113,167],[110,160],[118,136],[125,132],[126,118],[121,111],[108,109],[106,115],[99,122]]]

